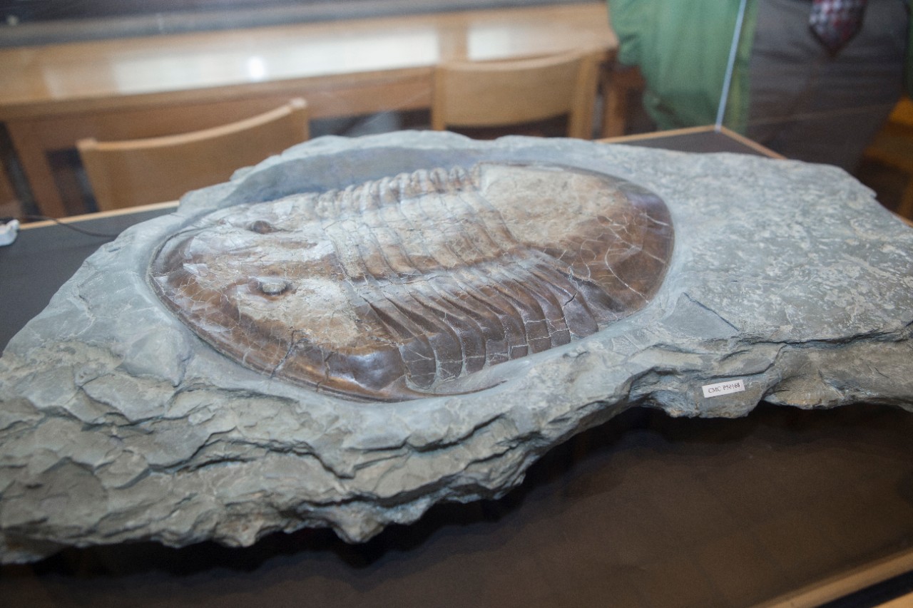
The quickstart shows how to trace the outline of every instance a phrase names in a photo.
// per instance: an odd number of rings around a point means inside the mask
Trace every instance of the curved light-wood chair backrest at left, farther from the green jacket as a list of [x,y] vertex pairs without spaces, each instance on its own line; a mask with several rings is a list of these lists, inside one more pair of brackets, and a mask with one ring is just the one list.
[[310,136],[308,105],[289,103],[244,121],[123,142],[77,142],[100,211],[172,201],[225,182],[236,169],[256,164]]

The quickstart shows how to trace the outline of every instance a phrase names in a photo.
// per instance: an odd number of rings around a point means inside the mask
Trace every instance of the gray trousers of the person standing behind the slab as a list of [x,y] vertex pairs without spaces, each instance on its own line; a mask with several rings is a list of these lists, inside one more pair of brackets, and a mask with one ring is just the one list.
[[908,7],[869,0],[861,31],[831,57],[809,0],[760,0],[748,135],[788,158],[855,171],[903,89]]

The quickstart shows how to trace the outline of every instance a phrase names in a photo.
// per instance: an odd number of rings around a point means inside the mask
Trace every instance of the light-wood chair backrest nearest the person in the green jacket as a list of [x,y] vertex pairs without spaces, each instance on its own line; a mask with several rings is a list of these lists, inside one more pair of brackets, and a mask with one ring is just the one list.
[[445,62],[435,70],[431,127],[490,127],[568,115],[569,137],[590,139],[603,52],[494,62]]

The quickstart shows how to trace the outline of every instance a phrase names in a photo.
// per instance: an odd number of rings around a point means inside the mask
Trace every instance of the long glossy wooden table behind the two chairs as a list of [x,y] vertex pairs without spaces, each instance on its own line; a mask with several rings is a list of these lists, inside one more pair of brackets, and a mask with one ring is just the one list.
[[422,109],[441,60],[616,47],[603,2],[17,47],[0,50],[0,121],[41,212],[61,216],[47,153],[79,138],[204,129],[292,97],[314,118]]

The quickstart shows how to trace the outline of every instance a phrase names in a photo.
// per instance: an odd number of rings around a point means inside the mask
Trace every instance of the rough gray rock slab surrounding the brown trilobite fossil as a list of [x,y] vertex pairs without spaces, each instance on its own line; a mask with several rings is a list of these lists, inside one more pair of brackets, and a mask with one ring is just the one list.
[[[157,247],[201,214],[479,160],[570,165],[658,194],[676,242],[654,299],[477,372],[492,388],[359,404],[231,362],[146,282]],[[438,500],[504,494],[549,447],[634,405],[913,411],[911,333],[913,230],[833,167],[444,133],[320,139],[126,231],[10,342],[0,560],[125,540],[247,545],[306,526],[366,540]],[[744,390],[704,396],[719,383]]]

